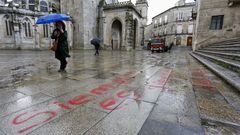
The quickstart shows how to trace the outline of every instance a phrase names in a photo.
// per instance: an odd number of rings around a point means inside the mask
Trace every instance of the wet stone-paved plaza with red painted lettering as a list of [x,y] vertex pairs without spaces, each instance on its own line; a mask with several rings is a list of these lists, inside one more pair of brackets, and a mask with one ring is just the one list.
[[0,135],[238,135],[240,94],[172,53],[0,51]]

